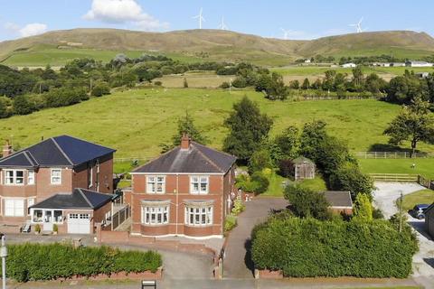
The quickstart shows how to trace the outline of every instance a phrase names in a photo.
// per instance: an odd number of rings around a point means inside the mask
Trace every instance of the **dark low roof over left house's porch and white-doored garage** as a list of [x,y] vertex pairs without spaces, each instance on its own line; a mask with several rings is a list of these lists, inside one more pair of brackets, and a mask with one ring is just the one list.
[[97,210],[107,204],[115,195],[74,189],[72,193],[58,193],[34,204],[33,209],[89,209]]

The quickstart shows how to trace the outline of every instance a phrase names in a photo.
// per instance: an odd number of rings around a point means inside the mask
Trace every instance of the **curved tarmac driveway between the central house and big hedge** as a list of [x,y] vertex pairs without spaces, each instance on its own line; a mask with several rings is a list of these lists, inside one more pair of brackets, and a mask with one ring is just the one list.
[[228,238],[223,260],[224,278],[252,278],[253,264],[250,258],[251,229],[267,219],[270,210],[282,210],[288,206],[283,198],[256,198],[248,201],[246,210],[238,217],[238,226]]

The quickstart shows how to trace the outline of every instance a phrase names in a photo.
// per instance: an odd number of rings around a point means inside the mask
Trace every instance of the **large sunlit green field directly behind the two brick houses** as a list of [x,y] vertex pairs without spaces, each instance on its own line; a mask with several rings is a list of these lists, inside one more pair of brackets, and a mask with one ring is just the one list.
[[[45,109],[29,116],[0,120],[0,139],[12,138],[24,147],[42,136],[75,135],[118,149],[117,157],[155,157],[159,144],[175,134],[176,122],[188,110],[213,147],[221,148],[228,133],[223,121],[232,104],[247,95],[274,120],[271,135],[289,125],[322,119],[331,135],[344,139],[351,150],[364,151],[385,144],[382,135],[399,106],[367,100],[269,101],[260,93],[221,89],[133,89],[72,107]],[[408,145],[408,144],[407,144]],[[420,144],[420,150],[434,146]]]

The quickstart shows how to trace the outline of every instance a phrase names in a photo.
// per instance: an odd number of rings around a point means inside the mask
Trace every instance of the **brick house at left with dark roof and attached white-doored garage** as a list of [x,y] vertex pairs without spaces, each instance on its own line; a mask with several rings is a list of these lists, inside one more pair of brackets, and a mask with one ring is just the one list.
[[[0,159],[0,223],[30,221],[40,223],[43,230],[66,223],[65,232],[92,232],[93,222],[101,222],[104,218],[99,216],[109,214],[114,153],[69,135],[43,140],[16,153],[6,142]],[[82,189],[74,191],[78,188]],[[101,197],[102,193],[108,197]],[[87,205],[77,207],[79,199]],[[103,204],[92,202],[102,199]]]

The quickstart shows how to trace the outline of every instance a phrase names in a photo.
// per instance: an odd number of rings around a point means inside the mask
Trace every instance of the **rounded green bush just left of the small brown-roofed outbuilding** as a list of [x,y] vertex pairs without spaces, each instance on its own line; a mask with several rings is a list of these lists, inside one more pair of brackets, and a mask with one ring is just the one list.
[[285,199],[289,201],[291,210],[299,218],[330,219],[328,210],[330,204],[325,200],[324,193],[312,191],[298,185],[289,185],[284,191]]

